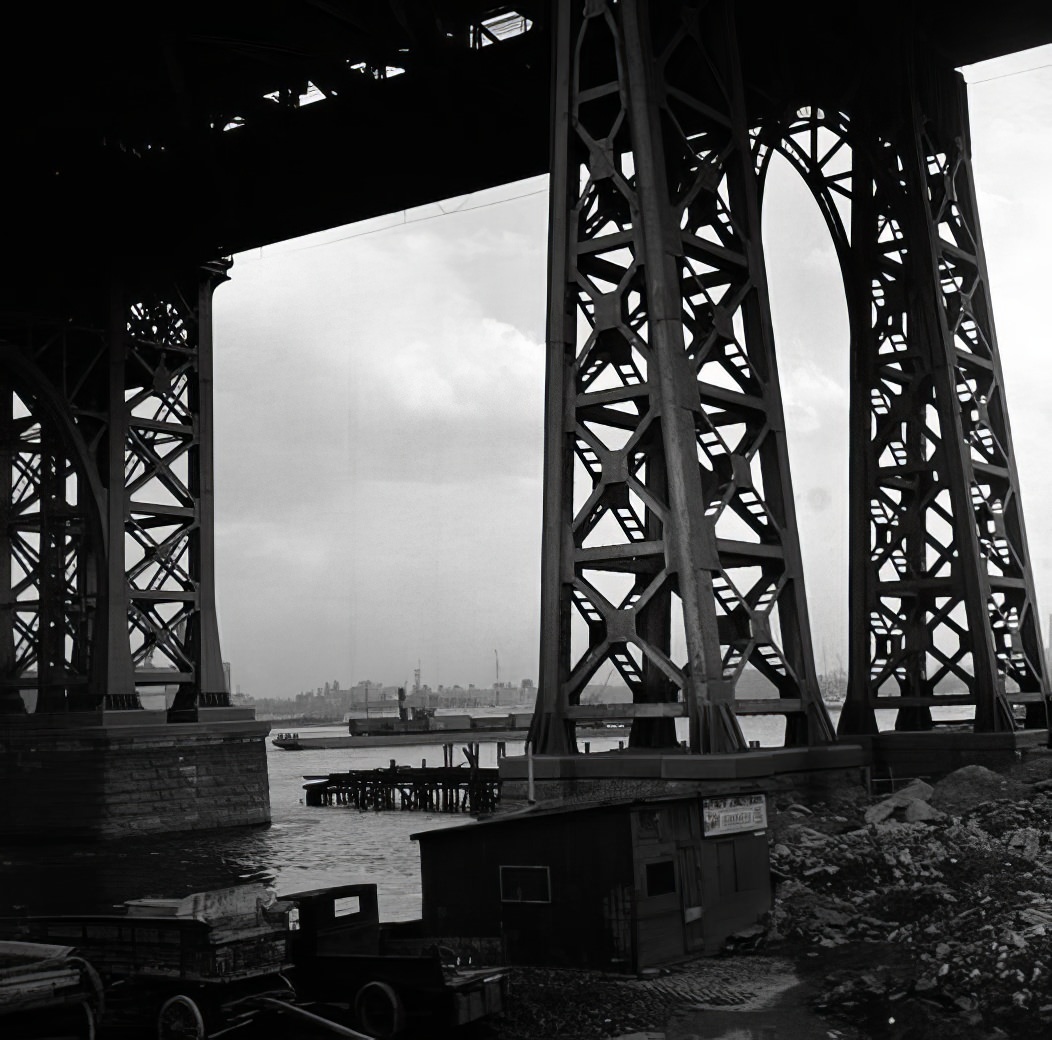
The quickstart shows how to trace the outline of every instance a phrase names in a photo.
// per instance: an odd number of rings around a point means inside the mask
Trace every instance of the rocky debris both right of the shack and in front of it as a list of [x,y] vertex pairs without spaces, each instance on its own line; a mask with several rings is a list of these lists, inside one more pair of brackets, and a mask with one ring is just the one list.
[[[1025,764],[1015,778],[966,767],[875,802],[850,789],[832,804],[772,807],[774,906],[721,960],[737,971],[757,954],[791,957],[834,1020],[830,1036],[1047,1040],[1052,754]],[[517,967],[490,1028],[500,1040],[606,1040],[660,1029],[683,1006],[634,978]]]

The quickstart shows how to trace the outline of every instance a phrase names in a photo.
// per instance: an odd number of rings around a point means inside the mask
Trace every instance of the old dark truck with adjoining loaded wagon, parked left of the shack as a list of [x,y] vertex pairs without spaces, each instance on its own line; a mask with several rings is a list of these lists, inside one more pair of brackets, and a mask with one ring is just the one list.
[[[137,899],[115,915],[22,919],[106,984],[107,1027],[149,1024],[159,1040],[205,1040],[265,1022],[352,1040],[465,1025],[504,1006],[502,968],[456,963],[425,938],[391,938],[375,884],[277,897],[261,884]],[[235,1034],[236,1035],[236,1034]],[[259,1035],[246,1028],[247,1035]]]

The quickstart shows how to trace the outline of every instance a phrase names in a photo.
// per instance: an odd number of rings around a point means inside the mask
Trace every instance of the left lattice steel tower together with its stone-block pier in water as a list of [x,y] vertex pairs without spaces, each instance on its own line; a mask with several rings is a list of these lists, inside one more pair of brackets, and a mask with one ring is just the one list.
[[0,315],[9,836],[269,820],[269,727],[230,705],[216,617],[211,297],[227,267],[84,270],[61,306]]

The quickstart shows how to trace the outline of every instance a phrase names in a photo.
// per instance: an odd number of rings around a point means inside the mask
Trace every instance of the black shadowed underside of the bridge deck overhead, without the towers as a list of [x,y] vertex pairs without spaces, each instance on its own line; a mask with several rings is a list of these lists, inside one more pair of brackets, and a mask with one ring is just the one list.
[[[951,67],[1052,42],[1033,0],[734,6],[750,116],[888,72],[914,32]],[[0,68],[4,291],[24,309],[103,262],[201,263],[547,171],[550,7],[27,8]]]

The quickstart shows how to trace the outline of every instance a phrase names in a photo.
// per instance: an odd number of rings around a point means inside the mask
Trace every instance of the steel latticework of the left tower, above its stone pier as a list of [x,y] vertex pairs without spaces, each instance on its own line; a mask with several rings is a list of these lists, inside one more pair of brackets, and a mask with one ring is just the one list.
[[115,283],[97,321],[4,315],[0,710],[228,705],[214,592],[211,292]]

